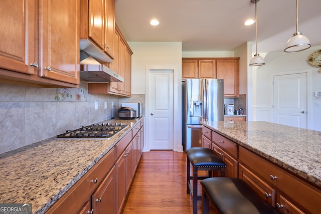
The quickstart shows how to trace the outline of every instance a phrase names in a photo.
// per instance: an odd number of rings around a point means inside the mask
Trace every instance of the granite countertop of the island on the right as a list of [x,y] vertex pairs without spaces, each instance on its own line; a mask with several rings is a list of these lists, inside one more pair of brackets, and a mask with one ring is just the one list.
[[203,124],[321,187],[321,132],[261,121]]

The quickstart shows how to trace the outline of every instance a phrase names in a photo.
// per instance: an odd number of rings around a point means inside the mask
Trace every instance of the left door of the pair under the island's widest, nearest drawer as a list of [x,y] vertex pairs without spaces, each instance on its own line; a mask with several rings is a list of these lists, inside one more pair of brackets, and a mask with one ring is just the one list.
[[242,164],[239,164],[239,178],[244,180],[260,197],[275,206],[276,191],[261,178],[252,173]]

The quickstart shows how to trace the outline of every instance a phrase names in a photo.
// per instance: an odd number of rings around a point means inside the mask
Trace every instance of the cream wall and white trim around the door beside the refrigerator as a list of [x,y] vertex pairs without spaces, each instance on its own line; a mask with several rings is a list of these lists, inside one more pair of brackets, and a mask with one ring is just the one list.
[[[181,42],[128,42],[131,58],[131,93],[145,94],[145,68],[174,69],[174,151],[182,146],[182,43]],[[145,100],[146,103],[146,100]],[[147,106],[147,105],[145,105]],[[149,137],[149,114],[145,109],[145,143]],[[149,148],[144,146],[144,151]]]

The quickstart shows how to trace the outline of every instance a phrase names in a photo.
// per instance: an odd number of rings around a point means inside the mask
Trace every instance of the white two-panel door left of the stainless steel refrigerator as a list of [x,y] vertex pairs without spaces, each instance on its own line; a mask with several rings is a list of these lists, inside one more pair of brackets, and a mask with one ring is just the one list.
[[149,148],[174,148],[173,70],[149,71]]

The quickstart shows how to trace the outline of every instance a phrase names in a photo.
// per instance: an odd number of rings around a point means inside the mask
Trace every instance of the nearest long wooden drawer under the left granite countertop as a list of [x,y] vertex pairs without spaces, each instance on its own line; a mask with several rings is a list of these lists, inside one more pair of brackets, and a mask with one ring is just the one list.
[[[48,213],[76,213],[92,192],[98,187],[109,169],[115,164],[115,149],[112,148],[89,171],[80,178],[57,202]],[[97,180],[96,180],[97,179]],[[96,182],[95,182],[96,180]]]

